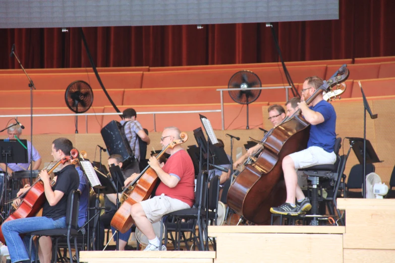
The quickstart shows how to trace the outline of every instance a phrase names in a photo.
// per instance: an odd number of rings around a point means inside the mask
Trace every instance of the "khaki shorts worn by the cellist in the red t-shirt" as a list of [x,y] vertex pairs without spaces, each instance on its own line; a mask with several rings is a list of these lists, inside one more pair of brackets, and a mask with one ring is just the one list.
[[144,213],[151,223],[160,221],[162,216],[174,211],[191,208],[187,203],[165,196],[163,193],[140,202]]

